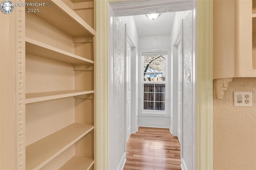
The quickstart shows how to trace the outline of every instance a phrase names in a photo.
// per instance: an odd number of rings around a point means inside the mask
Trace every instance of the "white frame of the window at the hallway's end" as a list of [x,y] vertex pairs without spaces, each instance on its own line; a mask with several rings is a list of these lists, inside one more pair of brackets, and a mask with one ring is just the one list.
[[[144,53],[152,53],[149,55],[165,55],[165,81],[144,81]],[[165,54],[163,54],[165,53]],[[168,85],[169,74],[168,74],[168,66],[170,67],[170,63],[168,63],[169,58],[169,49],[150,49],[150,50],[140,50],[138,59],[139,66],[139,116],[153,116],[153,117],[170,117],[170,102],[169,99],[169,91],[170,86]],[[144,109],[144,84],[165,84],[165,110],[146,110]],[[155,93],[155,92],[154,92]],[[155,98],[155,97],[154,97]],[[154,99],[155,100],[155,99]],[[156,101],[154,101],[156,102]]]

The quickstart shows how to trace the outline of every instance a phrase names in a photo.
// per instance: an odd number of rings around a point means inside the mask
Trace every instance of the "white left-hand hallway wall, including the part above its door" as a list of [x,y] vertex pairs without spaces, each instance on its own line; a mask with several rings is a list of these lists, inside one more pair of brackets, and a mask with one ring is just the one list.
[[[114,13],[113,13],[114,14]],[[113,101],[110,101],[109,115],[109,165],[110,170],[122,168],[126,158],[125,141],[125,24],[130,31],[132,38],[138,44],[138,33],[134,28],[133,17],[114,17],[114,56],[113,57],[113,80],[110,80],[110,87],[113,89]],[[136,60],[137,55],[135,56]],[[134,61],[132,61],[134,63]],[[138,70],[133,70],[132,74]],[[137,81],[138,82],[138,81]],[[132,82],[133,83],[133,82]],[[136,85],[136,81],[134,83]],[[134,86],[133,84],[133,86]],[[137,109],[138,110],[138,109]],[[132,111],[136,112],[136,108]]]

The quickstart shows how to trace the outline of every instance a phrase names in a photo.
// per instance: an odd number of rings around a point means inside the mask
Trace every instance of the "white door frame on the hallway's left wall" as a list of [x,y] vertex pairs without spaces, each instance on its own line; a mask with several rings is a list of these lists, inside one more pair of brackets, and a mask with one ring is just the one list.
[[[136,48],[136,44],[134,42],[134,40],[132,39],[131,33],[127,28],[127,24],[125,24],[125,79],[127,80],[127,43],[130,43],[130,45],[132,46],[132,57],[134,57],[134,50]],[[132,64],[132,61],[131,61]],[[132,66],[131,66],[132,67]],[[132,79],[131,76],[131,82],[133,82],[134,79]],[[132,87],[131,87],[132,88]],[[113,94],[113,93],[112,93]],[[133,99],[133,95],[134,95],[134,91],[132,91],[132,96],[131,96],[131,106],[134,107],[134,100]],[[124,117],[124,122],[125,122],[125,129],[124,129],[124,134],[125,134],[125,151],[126,151],[126,142],[127,142],[127,105],[126,105],[126,98],[127,98],[127,83],[125,83],[125,117]],[[136,122],[134,122],[134,120],[132,118],[136,117],[136,113],[131,113],[131,133],[132,133],[132,129],[136,128]],[[134,127],[135,126],[135,127]]]

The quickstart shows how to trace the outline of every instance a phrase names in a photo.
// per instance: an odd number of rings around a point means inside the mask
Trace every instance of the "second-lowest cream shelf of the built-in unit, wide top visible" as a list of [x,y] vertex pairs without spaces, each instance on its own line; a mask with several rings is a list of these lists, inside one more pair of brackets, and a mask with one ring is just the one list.
[[73,123],[26,146],[26,169],[42,168],[93,128],[92,125]]

